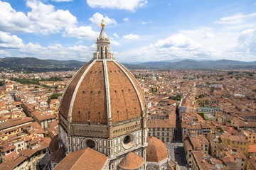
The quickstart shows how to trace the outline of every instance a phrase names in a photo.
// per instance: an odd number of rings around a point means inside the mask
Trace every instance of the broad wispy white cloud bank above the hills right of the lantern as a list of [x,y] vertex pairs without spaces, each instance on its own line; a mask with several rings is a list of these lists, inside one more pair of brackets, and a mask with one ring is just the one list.
[[119,52],[116,58],[120,62],[171,60],[177,57],[194,60],[255,61],[255,15],[251,13],[224,17],[220,19],[223,23],[213,24],[212,27],[179,30],[178,33],[157,40],[151,45]]

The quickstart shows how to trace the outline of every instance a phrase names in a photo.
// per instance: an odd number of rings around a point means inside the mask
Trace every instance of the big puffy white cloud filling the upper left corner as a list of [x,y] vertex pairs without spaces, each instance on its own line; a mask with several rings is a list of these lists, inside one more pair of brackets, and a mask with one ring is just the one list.
[[11,33],[58,33],[78,23],[68,10],[55,11],[54,6],[41,1],[27,1],[31,11],[16,12],[7,2],[0,1],[0,30]]

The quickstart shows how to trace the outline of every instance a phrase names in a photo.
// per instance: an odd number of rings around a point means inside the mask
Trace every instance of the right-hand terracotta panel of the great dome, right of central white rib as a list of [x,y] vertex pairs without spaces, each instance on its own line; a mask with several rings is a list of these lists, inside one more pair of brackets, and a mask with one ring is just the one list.
[[107,62],[113,123],[137,118],[142,114],[139,98],[131,81],[114,62]]

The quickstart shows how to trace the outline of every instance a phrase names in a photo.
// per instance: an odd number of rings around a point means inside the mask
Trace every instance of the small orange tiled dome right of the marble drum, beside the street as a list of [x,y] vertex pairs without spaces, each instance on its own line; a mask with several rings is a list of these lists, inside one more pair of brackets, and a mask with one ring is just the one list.
[[161,140],[156,137],[147,138],[148,146],[146,147],[146,161],[147,162],[161,162],[161,160],[166,159],[167,149]]

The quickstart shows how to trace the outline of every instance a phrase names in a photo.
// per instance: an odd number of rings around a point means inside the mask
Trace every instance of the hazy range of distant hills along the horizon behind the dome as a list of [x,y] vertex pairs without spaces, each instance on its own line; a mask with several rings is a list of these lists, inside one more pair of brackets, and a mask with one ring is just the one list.
[[[0,59],[0,68],[14,71],[21,69],[28,72],[50,72],[76,70],[86,62],[77,60],[41,60],[35,57],[6,57]],[[127,69],[256,69],[255,62],[240,62],[235,60],[197,61],[179,60],[178,62],[144,62],[139,64],[124,63]]]

